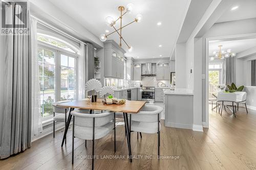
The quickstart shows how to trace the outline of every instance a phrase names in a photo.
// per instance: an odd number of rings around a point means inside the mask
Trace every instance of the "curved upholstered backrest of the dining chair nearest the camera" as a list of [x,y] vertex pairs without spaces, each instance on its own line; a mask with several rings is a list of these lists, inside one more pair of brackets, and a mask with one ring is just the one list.
[[80,127],[93,127],[93,117],[95,117],[95,127],[108,124],[114,118],[114,113],[108,111],[90,114],[90,110],[77,109],[71,114],[75,116],[75,125]]

